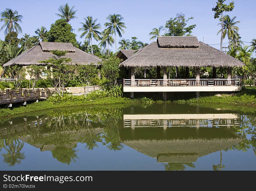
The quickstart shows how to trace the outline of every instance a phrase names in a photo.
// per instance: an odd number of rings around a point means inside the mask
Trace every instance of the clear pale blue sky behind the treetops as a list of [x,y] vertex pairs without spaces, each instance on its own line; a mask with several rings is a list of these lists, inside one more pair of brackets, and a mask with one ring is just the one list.
[[[60,0],[1,0],[0,11],[5,8],[11,8],[17,10],[19,14],[23,15],[22,23],[20,23],[23,33],[19,33],[19,38],[24,33],[35,35],[34,31],[40,27],[45,26],[48,30],[52,23],[56,19],[59,19],[55,13],[58,13],[60,5],[68,3],[70,6],[75,6],[77,11],[77,19],[70,21],[72,28],[75,29],[74,33],[77,34],[77,40],[83,41],[80,38],[81,32],[77,29],[81,27],[80,22],[83,22],[83,18],[92,15],[93,18],[98,19],[98,23],[101,24],[102,29],[104,23],[107,22],[106,17],[109,14],[121,14],[124,17],[124,22],[127,28],[122,38],[131,39],[136,36],[143,42],[152,42],[149,40],[148,35],[152,28],[158,28],[160,25],[165,25],[166,21],[170,17],[175,17],[176,13],[184,13],[186,17],[193,16],[194,19],[189,21],[188,24],[196,24],[196,28],[193,29],[192,35],[198,37],[198,40],[203,41],[207,44],[212,45],[217,49],[220,49],[220,35],[217,36],[220,26],[218,19],[214,19],[214,12],[211,10],[217,0],[158,0],[158,1],[140,1],[140,0],[129,0],[129,1],[60,1]],[[243,41],[250,42],[253,38],[256,38],[256,22],[255,22],[255,0],[234,0],[235,8],[232,12],[226,14],[231,17],[237,16],[237,20],[240,21],[238,24],[240,30],[239,34]],[[226,3],[231,2],[227,0]],[[3,23],[1,23],[2,25]],[[162,32],[163,34],[164,32]],[[3,31],[0,31],[0,39],[4,39]],[[119,41],[120,38],[117,38]],[[228,42],[225,39],[223,42]],[[93,44],[99,42],[94,41]],[[249,44],[249,43],[245,43]],[[113,50],[115,49],[113,45]]]

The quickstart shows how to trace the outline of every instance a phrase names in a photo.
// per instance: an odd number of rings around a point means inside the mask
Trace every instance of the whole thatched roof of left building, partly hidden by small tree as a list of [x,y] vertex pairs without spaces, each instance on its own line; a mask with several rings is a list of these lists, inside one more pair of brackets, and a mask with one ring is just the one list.
[[[82,50],[77,49],[74,47],[71,43],[62,43],[62,42],[40,42],[40,45],[34,46],[31,49],[21,53],[19,56],[13,58],[9,62],[5,63],[3,66],[11,66],[11,65],[22,65],[22,66],[27,66],[27,65],[44,65],[43,63],[39,63],[40,60],[47,60],[53,56],[55,56],[53,53],[49,51],[43,51],[44,49],[50,50],[49,45],[53,44],[53,49],[58,47],[56,44],[63,44],[67,45],[66,48],[64,48],[63,45],[59,46],[57,50],[63,51],[69,51],[66,53],[65,56],[62,57],[67,57],[71,58],[72,61],[70,64],[95,64],[98,65],[100,60],[96,56],[92,56]],[[70,44],[72,45],[72,48],[70,48]],[[73,51],[71,51],[73,50]]]

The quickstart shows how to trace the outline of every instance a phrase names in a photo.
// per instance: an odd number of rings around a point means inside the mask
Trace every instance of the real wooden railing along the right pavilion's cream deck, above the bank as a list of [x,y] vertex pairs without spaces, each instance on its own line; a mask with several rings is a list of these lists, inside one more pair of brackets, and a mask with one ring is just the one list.
[[124,86],[241,86],[240,79],[123,79]]

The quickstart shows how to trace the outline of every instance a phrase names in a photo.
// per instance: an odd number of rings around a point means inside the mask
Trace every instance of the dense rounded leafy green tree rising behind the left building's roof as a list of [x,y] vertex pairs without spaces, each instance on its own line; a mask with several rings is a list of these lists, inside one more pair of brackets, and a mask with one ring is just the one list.
[[48,42],[70,42],[77,47],[76,34],[72,33],[72,27],[66,22],[66,19],[58,19],[51,24],[50,30],[47,32]]

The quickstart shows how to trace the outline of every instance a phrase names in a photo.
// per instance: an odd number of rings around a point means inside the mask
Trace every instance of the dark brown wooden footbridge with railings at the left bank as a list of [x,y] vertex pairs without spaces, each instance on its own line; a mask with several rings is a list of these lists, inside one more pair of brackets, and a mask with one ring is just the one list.
[[45,100],[49,97],[49,90],[4,90],[0,91],[0,105],[32,100]]

